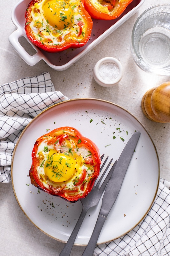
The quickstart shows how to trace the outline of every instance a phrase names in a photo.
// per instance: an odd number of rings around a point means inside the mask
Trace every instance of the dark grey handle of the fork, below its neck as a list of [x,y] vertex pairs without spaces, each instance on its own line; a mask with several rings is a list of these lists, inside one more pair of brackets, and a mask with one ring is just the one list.
[[83,210],[81,211],[80,217],[76,223],[76,226],[73,229],[73,231],[69,237],[69,240],[65,244],[65,246],[64,246],[62,252],[59,254],[59,256],[69,256],[70,255],[72,247],[73,247],[75,239],[76,239],[76,236],[77,236],[78,231],[81,227],[81,224],[85,218],[86,213],[87,213],[87,210],[83,208]]

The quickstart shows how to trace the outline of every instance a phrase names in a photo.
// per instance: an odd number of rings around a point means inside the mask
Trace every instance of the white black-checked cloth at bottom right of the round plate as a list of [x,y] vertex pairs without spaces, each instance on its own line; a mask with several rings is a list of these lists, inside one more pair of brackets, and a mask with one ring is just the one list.
[[160,179],[157,196],[144,220],[125,236],[97,245],[96,256],[170,255],[170,182]]

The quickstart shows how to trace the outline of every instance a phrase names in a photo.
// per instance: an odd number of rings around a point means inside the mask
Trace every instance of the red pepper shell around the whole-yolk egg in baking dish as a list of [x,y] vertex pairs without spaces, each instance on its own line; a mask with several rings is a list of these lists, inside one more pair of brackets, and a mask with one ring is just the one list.
[[[77,38],[76,39],[72,39],[70,37],[69,39],[69,33],[65,38],[64,38],[64,42],[62,42],[61,44],[58,43],[57,45],[52,42],[51,38],[46,38],[46,42],[44,43],[42,38],[38,36],[35,36],[31,27],[30,27],[30,23],[32,21],[32,16],[31,16],[31,11],[33,9],[34,4],[41,2],[42,0],[32,0],[29,4],[28,7],[26,9],[25,12],[25,32],[27,37],[29,38],[29,40],[35,44],[37,47],[41,48],[42,50],[46,51],[46,52],[61,52],[64,50],[67,50],[68,48],[79,48],[84,46],[92,33],[92,19],[90,17],[90,15],[88,14],[88,12],[85,10],[84,8],[84,0],[80,0],[80,5],[79,5],[79,10],[81,10],[81,15],[84,17],[85,22],[86,22],[86,29],[85,32],[82,32],[82,27],[79,28],[79,30],[81,31],[81,33],[83,33],[83,38],[79,38],[79,36],[81,36],[80,31],[78,32]],[[56,1],[57,2],[57,1]],[[41,31],[40,31],[41,33]],[[40,36],[40,35],[39,35]],[[61,36],[58,36],[58,38]]]

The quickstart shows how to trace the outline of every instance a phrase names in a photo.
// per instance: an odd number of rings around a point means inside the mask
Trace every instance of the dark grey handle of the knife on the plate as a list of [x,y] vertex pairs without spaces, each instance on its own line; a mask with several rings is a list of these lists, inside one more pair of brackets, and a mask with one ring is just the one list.
[[106,220],[105,216],[102,216],[102,215],[98,216],[96,225],[95,225],[94,230],[92,232],[92,236],[90,237],[90,240],[89,240],[82,256],[87,256],[87,255],[88,256],[93,256],[94,249],[96,247],[97,240],[99,238],[99,235],[100,235],[100,232],[101,232],[101,229],[103,227],[103,224],[104,224],[105,220]]

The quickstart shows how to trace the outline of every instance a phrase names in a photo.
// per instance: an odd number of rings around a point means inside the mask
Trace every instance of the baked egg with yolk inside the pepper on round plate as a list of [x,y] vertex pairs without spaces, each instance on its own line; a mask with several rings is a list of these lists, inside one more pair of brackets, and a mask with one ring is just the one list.
[[[57,142],[55,146],[47,143],[48,138],[39,144],[36,154],[40,161],[37,173],[43,186],[46,188],[53,186],[55,188],[66,184],[66,190],[78,187],[77,193],[83,193],[81,191],[82,184],[76,186],[76,181],[81,178],[84,169],[86,170],[86,182],[94,172],[94,167],[85,164],[84,161],[90,154],[89,151],[83,146],[76,148],[73,140],[65,140],[62,145]],[[86,182],[84,183],[85,188]]]

